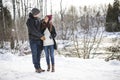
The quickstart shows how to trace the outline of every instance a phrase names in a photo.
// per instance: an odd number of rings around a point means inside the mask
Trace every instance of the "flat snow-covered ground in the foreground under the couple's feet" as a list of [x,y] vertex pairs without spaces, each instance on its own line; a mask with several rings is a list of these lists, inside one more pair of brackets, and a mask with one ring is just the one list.
[[[0,54],[0,80],[120,80],[120,62],[55,56],[54,73],[35,73],[31,55]],[[41,59],[46,69],[45,58]]]

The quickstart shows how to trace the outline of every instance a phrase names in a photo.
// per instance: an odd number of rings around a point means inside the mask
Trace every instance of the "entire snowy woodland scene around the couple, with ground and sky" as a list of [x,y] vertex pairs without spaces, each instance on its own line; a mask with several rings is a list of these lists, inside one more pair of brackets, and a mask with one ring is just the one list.
[[[52,15],[55,72],[34,72],[27,19]],[[0,80],[119,80],[120,0],[0,0]],[[45,52],[41,66],[46,70]]]

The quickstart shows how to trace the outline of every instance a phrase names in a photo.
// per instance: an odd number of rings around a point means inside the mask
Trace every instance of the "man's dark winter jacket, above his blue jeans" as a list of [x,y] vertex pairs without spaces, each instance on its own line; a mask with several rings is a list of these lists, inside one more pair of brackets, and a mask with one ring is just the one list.
[[43,34],[41,33],[41,29],[40,29],[41,20],[38,18],[34,18],[33,15],[29,13],[29,18],[26,24],[28,28],[29,39],[40,40],[40,37],[43,36]]

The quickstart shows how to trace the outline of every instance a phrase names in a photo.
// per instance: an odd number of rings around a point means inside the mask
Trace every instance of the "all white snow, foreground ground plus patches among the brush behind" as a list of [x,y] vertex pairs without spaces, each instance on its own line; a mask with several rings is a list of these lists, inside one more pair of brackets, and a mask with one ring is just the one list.
[[[103,32],[102,30],[101,28],[99,34]],[[94,32],[94,29],[92,31]],[[93,35],[95,34],[93,33]],[[83,38],[83,33],[79,35],[79,38]],[[102,43],[99,45],[100,48],[112,46],[111,39],[119,39],[120,32],[104,32],[103,38]],[[56,41],[59,51],[63,51],[63,54],[66,53],[64,48],[73,50],[71,48],[74,47],[73,41]],[[81,39],[79,44],[81,44]],[[54,73],[47,71],[35,73],[31,54],[22,55],[23,53],[31,53],[28,41],[18,46],[18,52],[12,52],[15,54],[11,53],[12,50],[9,50],[10,46],[8,45],[9,43],[5,43],[5,49],[0,49],[0,80],[120,80],[120,61],[105,62],[103,58],[97,58],[98,54],[90,55],[95,57],[94,59],[64,57],[57,54],[55,55]],[[99,53],[106,53],[102,52],[102,49],[99,51],[101,51]],[[44,53],[42,54],[44,55]],[[67,52],[67,54],[71,53]],[[42,57],[41,65],[43,69],[47,68],[45,57]]]

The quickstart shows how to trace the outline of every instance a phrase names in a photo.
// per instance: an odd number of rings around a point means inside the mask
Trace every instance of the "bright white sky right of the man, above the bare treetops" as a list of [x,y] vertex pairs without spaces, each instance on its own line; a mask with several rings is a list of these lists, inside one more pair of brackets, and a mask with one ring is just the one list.
[[[50,0],[47,0],[47,7],[50,7]],[[61,0],[52,0],[52,8],[53,12],[60,10],[60,1]],[[101,5],[101,4],[109,4],[113,3],[114,0],[63,0],[63,8],[69,7],[70,5],[74,5],[77,8],[79,6],[95,6],[95,5]],[[48,10],[48,14],[50,13],[50,10]]]

